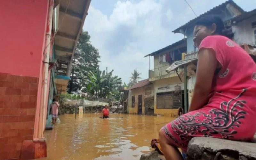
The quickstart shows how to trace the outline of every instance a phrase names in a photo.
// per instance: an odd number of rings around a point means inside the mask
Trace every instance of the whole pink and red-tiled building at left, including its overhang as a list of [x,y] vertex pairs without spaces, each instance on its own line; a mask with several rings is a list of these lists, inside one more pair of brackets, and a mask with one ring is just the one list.
[[0,2],[5,15],[0,18],[0,159],[46,156],[43,134],[51,119],[49,105],[57,92],[63,92],[56,88],[63,78],[55,71],[59,60],[66,60],[70,70],[89,4],[90,0]]

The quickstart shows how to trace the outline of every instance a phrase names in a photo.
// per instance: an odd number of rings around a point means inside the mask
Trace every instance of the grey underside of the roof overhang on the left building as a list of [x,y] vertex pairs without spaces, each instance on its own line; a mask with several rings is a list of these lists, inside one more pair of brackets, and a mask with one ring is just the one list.
[[90,3],[91,0],[55,0],[54,5],[59,8],[54,38],[56,59],[72,59]]

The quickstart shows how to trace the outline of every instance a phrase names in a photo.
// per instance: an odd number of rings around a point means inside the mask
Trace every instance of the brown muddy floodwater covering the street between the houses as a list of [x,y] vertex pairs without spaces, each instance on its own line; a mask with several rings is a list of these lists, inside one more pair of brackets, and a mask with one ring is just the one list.
[[46,159],[138,160],[149,153],[152,138],[173,118],[110,114],[68,114],[60,116],[60,124],[45,131]]

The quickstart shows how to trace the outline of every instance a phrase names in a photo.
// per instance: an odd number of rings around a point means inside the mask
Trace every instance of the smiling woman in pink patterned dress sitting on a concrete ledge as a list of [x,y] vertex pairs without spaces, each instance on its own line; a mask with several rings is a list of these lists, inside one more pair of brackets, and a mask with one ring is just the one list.
[[256,132],[256,64],[232,41],[219,17],[194,28],[198,62],[187,114],[166,124],[159,141],[166,160],[182,159],[193,137],[250,141]]

